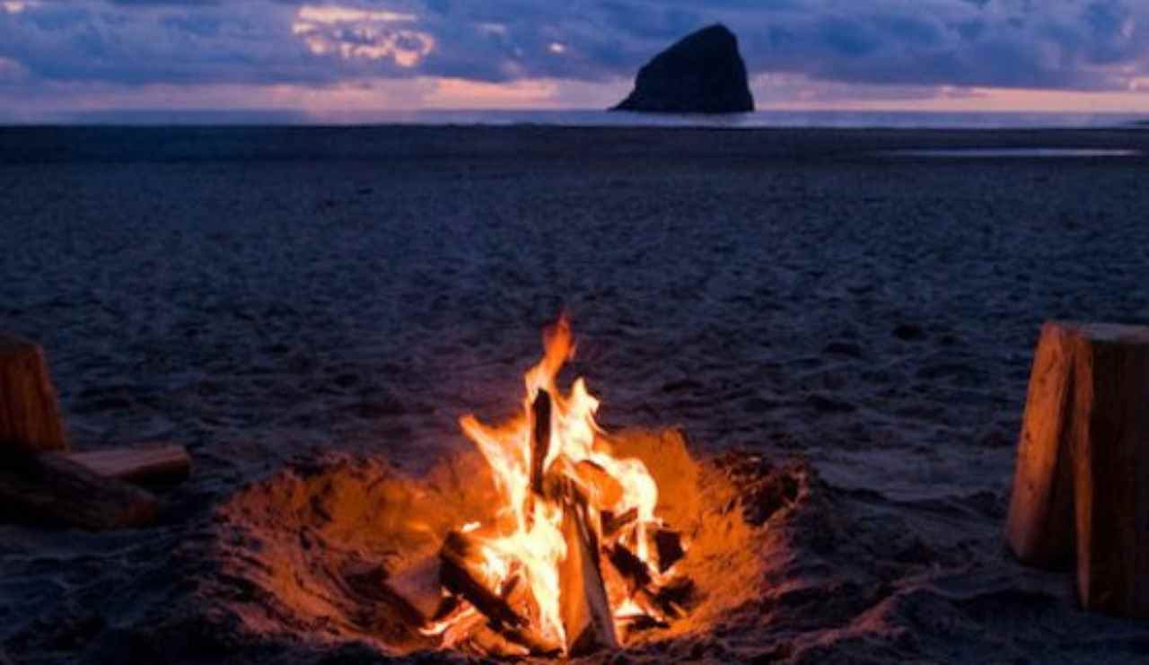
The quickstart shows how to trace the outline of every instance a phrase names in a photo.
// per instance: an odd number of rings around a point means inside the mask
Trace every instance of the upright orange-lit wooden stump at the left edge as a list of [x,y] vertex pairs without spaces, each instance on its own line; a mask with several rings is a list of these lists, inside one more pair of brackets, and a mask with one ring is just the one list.
[[0,333],[0,447],[64,450],[64,426],[44,349]]

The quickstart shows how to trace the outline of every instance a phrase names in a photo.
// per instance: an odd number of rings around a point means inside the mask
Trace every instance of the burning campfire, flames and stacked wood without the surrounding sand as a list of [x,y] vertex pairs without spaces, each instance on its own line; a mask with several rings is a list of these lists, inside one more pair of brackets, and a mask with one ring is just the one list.
[[498,505],[442,543],[444,598],[424,626],[444,648],[492,655],[616,649],[635,631],[684,614],[687,543],[655,517],[646,465],[615,455],[583,379],[556,384],[574,345],[562,318],[525,377],[523,412],[498,426],[460,424],[494,478]]

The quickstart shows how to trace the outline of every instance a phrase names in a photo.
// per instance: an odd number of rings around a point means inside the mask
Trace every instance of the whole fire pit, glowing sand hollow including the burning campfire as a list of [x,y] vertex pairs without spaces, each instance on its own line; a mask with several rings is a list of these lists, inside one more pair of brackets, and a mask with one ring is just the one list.
[[522,412],[461,418],[475,451],[427,477],[326,456],[225,505],[221,560],[244,593],[221,593],[248,629],[579,656],[704,631],[761,597],[764,523],[800,501],[801,473],[764,492],[768,471],[699,464],[679,431],[604,431],[585,381],[557,385],[566,319],[543,342]]

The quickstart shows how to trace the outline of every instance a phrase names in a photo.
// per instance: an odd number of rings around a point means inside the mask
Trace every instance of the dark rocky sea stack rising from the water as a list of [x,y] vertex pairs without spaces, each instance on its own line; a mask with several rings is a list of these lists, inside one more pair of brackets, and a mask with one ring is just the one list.
[[639,70],[611,110],[733,114],[754,110],[738,37],[720,23],[691,33]]

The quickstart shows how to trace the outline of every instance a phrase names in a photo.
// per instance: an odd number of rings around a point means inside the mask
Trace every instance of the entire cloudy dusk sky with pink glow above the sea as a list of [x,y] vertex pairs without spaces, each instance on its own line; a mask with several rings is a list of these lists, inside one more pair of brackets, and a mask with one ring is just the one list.
[[764,110],[1149,113],[1149,0],[0,0],[0,118],[604,108],[716,22]]

